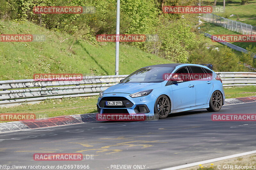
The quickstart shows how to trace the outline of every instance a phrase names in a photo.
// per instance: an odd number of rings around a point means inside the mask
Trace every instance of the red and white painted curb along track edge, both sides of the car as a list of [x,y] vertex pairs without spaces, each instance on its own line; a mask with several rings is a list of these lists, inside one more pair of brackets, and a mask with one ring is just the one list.
[[[225,99],[225,105],[255,102],[256,96]],[[29,121],[0,123],[0,133],[24,129],[46,128],[53,126],[69,125],[76,123],[96,122],[96,114],[81,114],[51,117],[47,119],[35,119]]]

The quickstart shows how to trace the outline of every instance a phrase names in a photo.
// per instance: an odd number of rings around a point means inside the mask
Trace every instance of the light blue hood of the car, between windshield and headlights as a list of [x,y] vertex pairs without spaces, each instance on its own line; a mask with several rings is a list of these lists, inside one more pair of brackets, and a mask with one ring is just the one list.
[[136,92],[150,90],[162,87],[162,83],[121,83],[113,85],[106,89],[103,94],[106,93],[129,93],[133,94]]

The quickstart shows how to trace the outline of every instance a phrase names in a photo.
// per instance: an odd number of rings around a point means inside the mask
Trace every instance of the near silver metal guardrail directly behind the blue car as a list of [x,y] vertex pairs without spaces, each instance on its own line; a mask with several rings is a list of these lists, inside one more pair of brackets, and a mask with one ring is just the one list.
[[[224,87],[256,85],[255,72],[216,73]],[[91,76],[77,81],[4,80],[0,81],[0,107],[34,104],[45,99],[95,96],[127,76]]]

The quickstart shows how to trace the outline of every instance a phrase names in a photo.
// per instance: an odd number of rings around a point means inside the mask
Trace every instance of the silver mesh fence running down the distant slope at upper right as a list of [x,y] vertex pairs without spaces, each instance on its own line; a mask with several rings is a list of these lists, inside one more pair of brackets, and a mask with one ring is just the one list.
[[241,34],[256,34],[256,26],[220,17],[212,13],[202,15],[202,19]]

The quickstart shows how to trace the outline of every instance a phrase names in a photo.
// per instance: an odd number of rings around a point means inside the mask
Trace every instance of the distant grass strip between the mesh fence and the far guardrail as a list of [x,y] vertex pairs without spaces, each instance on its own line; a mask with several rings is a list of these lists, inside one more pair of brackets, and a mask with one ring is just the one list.
[[[235,31],[230,31],[222,26],[217,26],[213,23],[204,23],[202,26],[202,29],[205,31],[205,33],[209,33],[211,35],[234,35],[239,34]],[[231,44],[234,44],[238,47],[242,47],[244,49],[248,48],[250,45],[253,47],[256,47],[256,42],[230,42]]]

